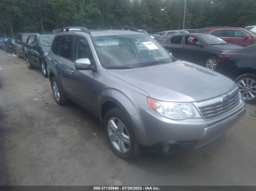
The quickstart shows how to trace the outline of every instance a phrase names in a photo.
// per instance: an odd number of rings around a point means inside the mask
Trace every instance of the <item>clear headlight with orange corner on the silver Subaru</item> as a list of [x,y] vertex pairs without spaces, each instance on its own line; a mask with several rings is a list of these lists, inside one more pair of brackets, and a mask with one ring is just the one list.
[[149,106],[162,116],[170,119],[201,118],[192,103],[178,103],[148,99]]

